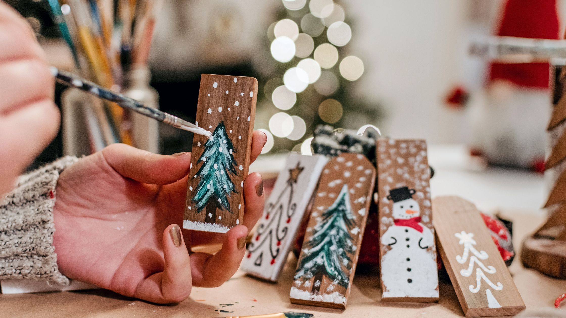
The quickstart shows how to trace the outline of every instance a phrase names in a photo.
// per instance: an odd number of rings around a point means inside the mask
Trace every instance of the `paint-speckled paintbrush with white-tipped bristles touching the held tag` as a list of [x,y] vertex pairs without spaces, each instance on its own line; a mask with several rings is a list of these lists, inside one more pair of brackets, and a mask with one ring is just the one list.
[[168,124],[169,126],[194,132],[195,134],[204,135],[209,139],[212,139],[212,133],[210,131],[198,127],[195,124],[187,122],[181,118],[178,118],[177,116],[165,113],[164,111],[158,110],[156,108],[145,106],[139,101],[133,100],[132,98],[124,96],[121,93],[110,91],[110,89],[103,88],[100,85],[93,83],[92,81],[80,78],[79,76],[76,76],[70,72],[59,70],[57,67],[51,67],[51,72],[55,79],[62,84],[91,93],[98,98],[102,98],[103,100],[115,102],[122,108],[131,109],[136,113],[156,119],[157,121]]

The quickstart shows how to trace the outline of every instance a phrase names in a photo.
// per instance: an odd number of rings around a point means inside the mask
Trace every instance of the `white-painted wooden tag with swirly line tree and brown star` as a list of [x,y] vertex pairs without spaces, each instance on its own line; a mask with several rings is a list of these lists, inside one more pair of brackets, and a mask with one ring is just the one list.
[[241,269],[252,276],[277,281],[295,235],[328,158],[291,153],[281,170]]

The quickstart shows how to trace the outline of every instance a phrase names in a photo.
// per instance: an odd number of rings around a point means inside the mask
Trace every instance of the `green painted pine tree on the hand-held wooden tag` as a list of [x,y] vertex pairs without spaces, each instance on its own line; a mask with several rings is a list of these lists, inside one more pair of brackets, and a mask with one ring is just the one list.
[[212,139],[204,144],[204,152],[197,161],[197,164],[204,164],[196,173],[199,184],[192,201],[196,203],[197,213],[207,207],[211,223],[217,222],[217,208],[230,211],[228,197],[237,192],[229,176],[229,173],[237,175],[233,149],[234,145],[226,134],[224,122],[220,122],[212,133]]

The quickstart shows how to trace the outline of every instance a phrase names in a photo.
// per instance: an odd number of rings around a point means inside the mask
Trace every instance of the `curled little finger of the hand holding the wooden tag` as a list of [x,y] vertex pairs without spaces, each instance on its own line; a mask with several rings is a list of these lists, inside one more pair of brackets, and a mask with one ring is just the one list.
[[191,261],[181,229],[169,225],[163,233],[163,272],[152,274],[141,281],[135,297],[154,303],[178,303],[191,293]]

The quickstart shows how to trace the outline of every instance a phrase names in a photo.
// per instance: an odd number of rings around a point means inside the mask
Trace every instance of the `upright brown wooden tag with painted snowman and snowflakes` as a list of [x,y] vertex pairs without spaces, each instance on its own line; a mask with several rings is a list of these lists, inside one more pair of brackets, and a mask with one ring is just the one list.
[[424,140],[377,141],[381,300],[435,302],[438,267]]

